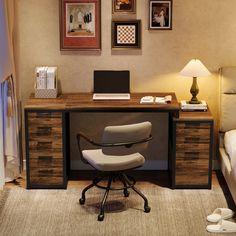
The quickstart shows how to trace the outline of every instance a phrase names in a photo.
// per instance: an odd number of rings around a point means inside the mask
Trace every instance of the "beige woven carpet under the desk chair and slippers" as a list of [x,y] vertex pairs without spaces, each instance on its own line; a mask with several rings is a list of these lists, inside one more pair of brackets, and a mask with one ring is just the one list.
[[[131,191],[128,198],[113,191],[103,222],[97,221],[100,189],[87,193],[79,204],[80,189],[0,191],[1,236],[203,236],[206,216],[216,207],[227,207],[220,187],[211,190],[172,190],[150,184],[142,189],[150,213],[143,212],[142,199]],[[220,234],[217,234],[220,235]]]

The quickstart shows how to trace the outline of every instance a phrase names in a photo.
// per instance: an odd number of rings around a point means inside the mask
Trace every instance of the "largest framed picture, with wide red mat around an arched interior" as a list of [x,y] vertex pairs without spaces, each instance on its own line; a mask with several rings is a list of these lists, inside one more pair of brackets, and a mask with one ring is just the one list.
[[60,0],[60,49],[101,49],[101,0]]

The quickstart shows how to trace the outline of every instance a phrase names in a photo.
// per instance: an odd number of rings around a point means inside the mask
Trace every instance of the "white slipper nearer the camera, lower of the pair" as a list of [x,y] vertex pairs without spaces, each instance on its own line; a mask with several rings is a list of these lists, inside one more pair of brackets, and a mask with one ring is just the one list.
[[208,225],[206,230],[210,233],[236,233],[236,223],[220,220],[216,225]]

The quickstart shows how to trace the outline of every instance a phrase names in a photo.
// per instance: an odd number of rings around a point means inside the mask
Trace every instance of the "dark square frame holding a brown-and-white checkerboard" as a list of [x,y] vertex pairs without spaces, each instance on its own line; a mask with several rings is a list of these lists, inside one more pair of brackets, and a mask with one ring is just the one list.
[[112,49],[141,48],[141,20],[112,21]]

